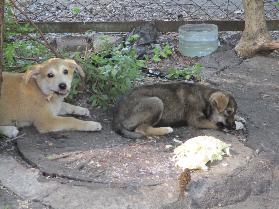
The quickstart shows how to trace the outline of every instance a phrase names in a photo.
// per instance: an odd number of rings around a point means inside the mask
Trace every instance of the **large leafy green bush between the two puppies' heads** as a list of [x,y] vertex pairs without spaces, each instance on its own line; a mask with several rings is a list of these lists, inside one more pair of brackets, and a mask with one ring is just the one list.
[[[92,94],[89,102],[93,107],[101,106],[103,110],[112,108],[116,100],[131,89],[132,82],[145,80],[140,68],[146,68],[146,64],[151,61],[161,60],[159,56],[167,57],[166,53],[171,53],[167,45],[160,53],[158,47],[155,47],[155,56],[148,59],[145,55],[146,60],[138,60],[134,46],[129,45],[133,39],[138,38],[138,35],[134,35],[117,47],[110,43],[107,37],[98,38],[104,40],[104,51],[87,54],[84,58],[76,52],[76,58],[83,63],[87,78],[84,87]],[[74,77],[73,89],[81,85],[79,79],[79,76]],[[76,93],[78,92],[71,90],[68,99],[72,99]]]

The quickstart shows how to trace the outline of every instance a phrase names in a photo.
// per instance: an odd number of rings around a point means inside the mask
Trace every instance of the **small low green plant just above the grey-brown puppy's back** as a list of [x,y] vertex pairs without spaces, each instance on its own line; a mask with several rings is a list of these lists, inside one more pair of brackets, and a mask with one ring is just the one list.
[[196,64],[194,67],[191,68],[191,66],[187,66],[186,68],[183,68],[182,70],[175,70],[175,69],[168,69],[169,74],[166,76],[167,78],[173,76],[173,77],[183,77],[185,80],[189,80],[193,78],[193,76],[196,77],[198,80],[204,80],[203,77],[199,77],[199,74],[201,73],[201,68],[205,68],[205,66],[201,63]]

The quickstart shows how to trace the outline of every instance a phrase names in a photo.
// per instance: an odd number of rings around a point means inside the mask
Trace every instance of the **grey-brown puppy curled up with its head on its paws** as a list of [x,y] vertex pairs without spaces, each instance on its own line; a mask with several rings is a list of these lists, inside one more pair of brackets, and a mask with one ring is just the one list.
[[[238,130],[244,118],[235,116],[237,104],[227,91],[191,83],[146,85],[117,101],[114,131],[126,138],[173,132],[170,127]],[[237,122],[237,121],[241,122]]]

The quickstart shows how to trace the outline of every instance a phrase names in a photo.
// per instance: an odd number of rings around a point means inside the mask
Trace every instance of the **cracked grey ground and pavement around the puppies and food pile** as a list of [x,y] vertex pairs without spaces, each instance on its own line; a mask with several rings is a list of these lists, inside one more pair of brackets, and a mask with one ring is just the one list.
[[[247,120],[246,130],[224,133],[181,127],[174,128],[169,135],[130,140],[112,131],[112,111],[90,108],[86,103],[88,95],[84,95],[77,104],[88,107],[91,116],[81,119],[100,122],[102,131],[41,134],[32,127],[24,127],[20,134],[26,135],[17,141],[2,143],[0,155],[6,156],[8,150],[22,166],[40,176],[39,182],[56,181],[75,186],[79,192],[86,191],[88,199],[84,195],[78,199],[80,205],[74,206],[72,201],[76,194],[69,189],[68,193],[73,196],[63,195],[63,191],[57,189],[42,200],[32,200],[9,188],[2,179],[0,208],[7,205],[9,208],[27,206],[34,209],[279,208],[278,52],[241,58],[232,49],[239,35],[229,37],[224,34],[224,37],[222,45],[211,55],[188,58],[178,52],[175,34],[167,33],[161,42],[174,40],[171,47],[176,53],[150,67],[167,73],[168,68],[181,69],[203,63],[206,68],[201,76],[207,77],[205,85],[232,93],[239,107],[238,115]],[[167,82],[174,81],[150,77],[146,83]],[[177,201],[177,178],[181,168],[174,167],[173,149],[165,146],[178,146],[173,138],[185,142],[198,135],[214,136],[232,144],[233,157],[225,156],[222,161],[209,164],[209,171],[194,170],[186,198]],[[153,139],[156,141],[148,142]],[[141,144],[143,142],[148,143]],[[223,167],[221,162],[227,162],[229,166]],[[100,193],[103,196],[98,196]],[[106,201],[101,201],[102,197]],[[90,198],[95,199],[94,204],[85,207],[85,200]],[[63,199],[68,205],[61,202]]]

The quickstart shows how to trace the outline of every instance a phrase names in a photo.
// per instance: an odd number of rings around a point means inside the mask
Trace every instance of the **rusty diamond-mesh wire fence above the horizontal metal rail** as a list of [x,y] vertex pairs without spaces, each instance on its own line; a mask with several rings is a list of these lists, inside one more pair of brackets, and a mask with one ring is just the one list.
[[[242,0],[15,0],[35,22],[243,20]],[[264,0],[267,20],[278,20],[277,0]],[[17,15],[19,13],[15,11]],[[18,18],[20,20],[21,18]]]

